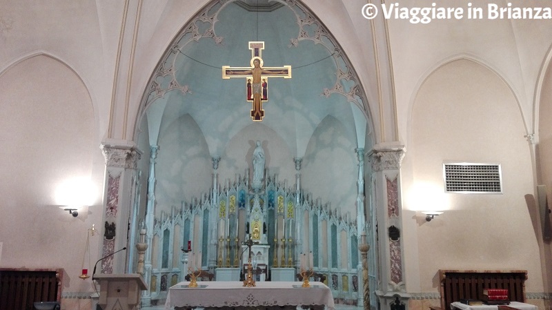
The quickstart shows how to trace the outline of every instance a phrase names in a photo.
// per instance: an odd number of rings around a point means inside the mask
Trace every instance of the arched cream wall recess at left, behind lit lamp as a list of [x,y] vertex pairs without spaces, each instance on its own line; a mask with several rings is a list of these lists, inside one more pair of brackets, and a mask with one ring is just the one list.
[[99,235],[86,257],[84,250],[87,230],[100,228],[102,188],[76,218],[58,208],[71,192],[58,199],[57,191],[80,178],[103,182],[92,170],[103,155],[90,96],[75,72],[39,55],[0,76],[0,102],[1,267],[63,268],[63,289],[86,291],[90,283],[78,275],[83,258],[88,269],[97,259]]

